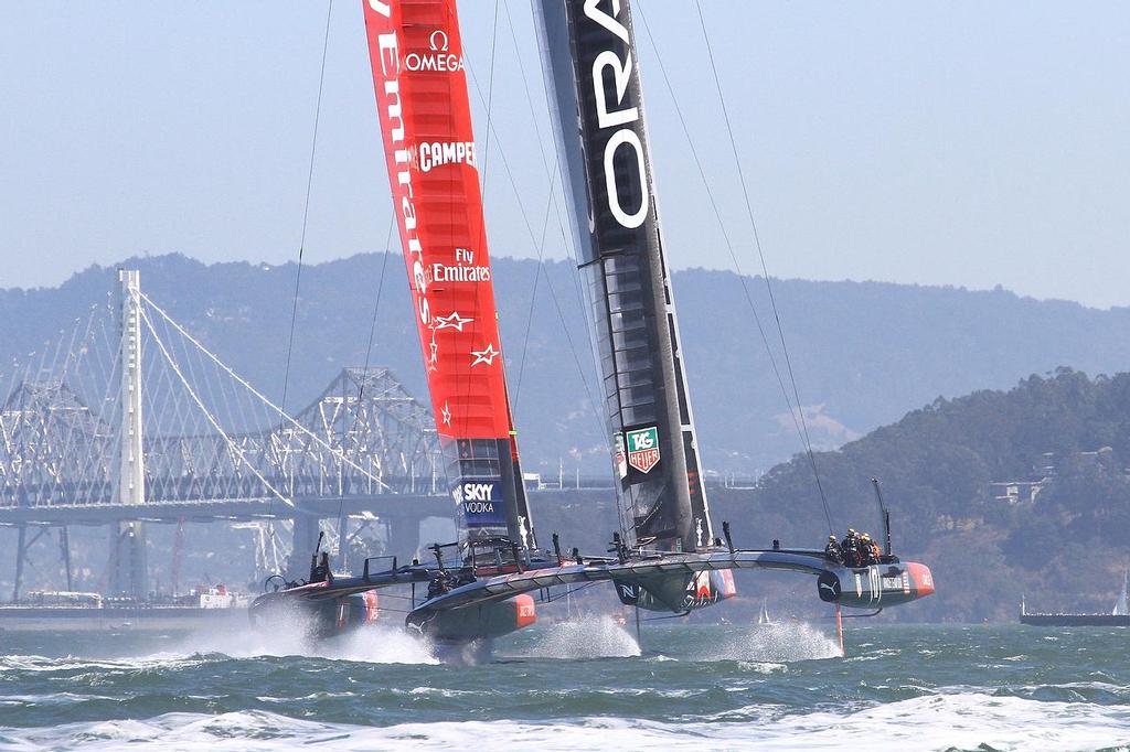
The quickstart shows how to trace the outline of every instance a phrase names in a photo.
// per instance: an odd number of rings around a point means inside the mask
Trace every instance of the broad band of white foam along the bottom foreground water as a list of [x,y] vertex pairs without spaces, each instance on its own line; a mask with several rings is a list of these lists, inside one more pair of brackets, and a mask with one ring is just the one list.
[[728,750],[866,747],[1102,749],[1130,740],[1130,709],[1079,702],[1038,702],[981,693],[937,694],[855,712],[793,714],[757,723],[672,724],[584,717],[557,723],[441,722],[367,727],[288,718],[252,710],[220,715],[172,712],[148,720],[107,720],[51,728],[0,731],[0,749],[266,750],[332,745],[336,750],[451,750],[505,743],[507,750],[668,750],[675,745]]

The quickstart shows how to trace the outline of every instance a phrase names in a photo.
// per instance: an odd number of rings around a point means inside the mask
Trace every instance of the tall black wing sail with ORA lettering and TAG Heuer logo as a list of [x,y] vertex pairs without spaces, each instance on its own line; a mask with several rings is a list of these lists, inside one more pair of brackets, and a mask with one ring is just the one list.
[[713,539],[628,0],[533,0],[628,543]]

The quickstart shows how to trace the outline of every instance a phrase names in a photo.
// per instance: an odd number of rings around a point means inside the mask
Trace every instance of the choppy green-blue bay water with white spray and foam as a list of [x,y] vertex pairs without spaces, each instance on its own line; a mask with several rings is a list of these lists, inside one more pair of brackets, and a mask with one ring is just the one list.
[[608,618],[437,663],[373,629],[0,633],[0,749],[1130,749],[1130,630]]

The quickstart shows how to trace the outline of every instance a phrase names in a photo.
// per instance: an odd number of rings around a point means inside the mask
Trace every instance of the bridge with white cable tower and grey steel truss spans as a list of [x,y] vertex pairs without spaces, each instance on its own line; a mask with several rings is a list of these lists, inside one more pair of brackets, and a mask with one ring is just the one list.
[[421,519],[452,514],[431,412],[388,368],[346,368],[288,414],[146,296],[137,271],[0,390],[14,601],[28,549],[52,531],[71,589],[72,525],[110,528],[107,593],[145,598],[146,524],[254,526],[257,566],[289,549],[302,574],[320,530],[346,567],[362,528],[382,526],[386,552],[407,557]]

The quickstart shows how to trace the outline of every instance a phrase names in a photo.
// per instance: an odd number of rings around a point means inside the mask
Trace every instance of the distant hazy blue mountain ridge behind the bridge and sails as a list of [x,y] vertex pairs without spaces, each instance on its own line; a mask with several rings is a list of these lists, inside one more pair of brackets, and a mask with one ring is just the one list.
[[[279,399],[294,264],[205,265],[175,254],[122,264],[140,269],[142,288],[156,303]],[[566,472],[577,464],[583,472],[607,472],[602,421],[590,400],[598,378],[579,280],[564,262],[547,263],[538,281],[537,271],[533,261],[495,263],[527,464],[555,473],[564,458]],[[763,280],[747,281],[775,343]],[[786,460],[800,443],[739,278],[698,269],[676,272],[673,285],[706,470],[753,475]],[[938,395],[1006,387],[1062,364],[1088,373],[1114,373],[1130,364],[1130,308],[1096,311],[999,289],[774,285],[806,419],[819,448],[897,420]],[[55,289],[0,290],[2,383],[14,357],[40,349],[113,286],[113,268],[93,266]],[[371,362],[391,366],[414,394],[424,396],[402,261],[366,254],[303,271],[288,408],[316,396],[342,366],[364,362],[377,290]],[[781,365],[779,348],[776,358]]]

